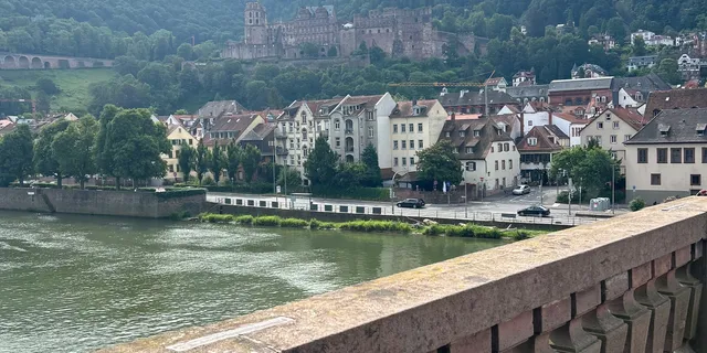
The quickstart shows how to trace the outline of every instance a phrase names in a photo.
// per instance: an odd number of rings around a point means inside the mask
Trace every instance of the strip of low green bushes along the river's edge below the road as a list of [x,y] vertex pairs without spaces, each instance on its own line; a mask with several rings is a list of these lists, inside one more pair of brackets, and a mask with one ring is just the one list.
[[546,234],[540,231],[510,229],[503,231],[496,227],[486,227],[475,224],[442,225],[442,224],[409,224],[394,221],[350,221],[350,222],[321,222],[318,220],[282,218],[278,216],[230,215],[207,213],[199,215],[200,222],[238,224],[244,226],[282,227],[297,229],[342,229],[363,233],[418,233],[430,236],[454,236],[482,239],[511,238],[523,240],[537,235]]

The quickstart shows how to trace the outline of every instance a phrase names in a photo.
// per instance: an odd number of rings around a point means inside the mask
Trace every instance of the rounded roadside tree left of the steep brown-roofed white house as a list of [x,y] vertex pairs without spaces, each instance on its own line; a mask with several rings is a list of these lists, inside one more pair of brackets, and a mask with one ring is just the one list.
[[440,140],[434,146],[418,152],[418,179],[424,183],[437,181],[458,185],[463,180],[462,162],[454,154],[449,140]]

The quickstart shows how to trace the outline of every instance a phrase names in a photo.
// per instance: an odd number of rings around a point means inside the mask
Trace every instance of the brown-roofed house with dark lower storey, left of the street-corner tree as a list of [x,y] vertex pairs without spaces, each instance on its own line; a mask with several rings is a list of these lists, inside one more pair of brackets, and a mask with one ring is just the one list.
[[525,183],[546,183],[552,158],[570,146],[570,138],[555,125],[535,126],[518,142],[520,175]]

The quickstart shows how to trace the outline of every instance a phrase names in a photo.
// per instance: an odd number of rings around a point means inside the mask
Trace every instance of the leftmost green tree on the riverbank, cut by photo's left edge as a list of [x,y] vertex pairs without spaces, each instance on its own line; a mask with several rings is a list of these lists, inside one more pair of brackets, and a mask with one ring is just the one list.
[[20,124],[0,140],[0,180],[3,183],[18,180],[23,185],[34,171],[33,156],[30,126]]

